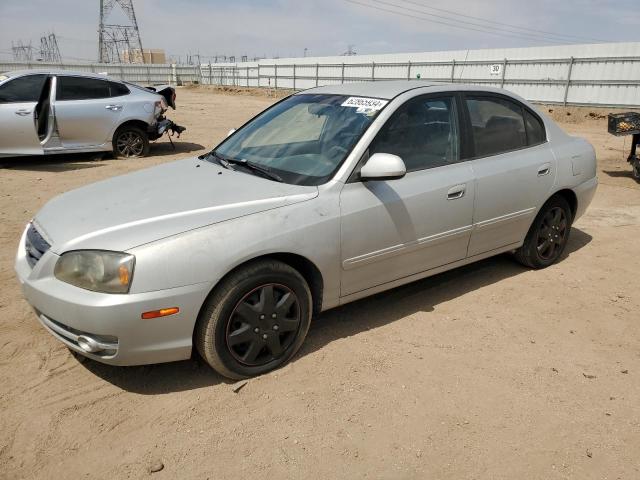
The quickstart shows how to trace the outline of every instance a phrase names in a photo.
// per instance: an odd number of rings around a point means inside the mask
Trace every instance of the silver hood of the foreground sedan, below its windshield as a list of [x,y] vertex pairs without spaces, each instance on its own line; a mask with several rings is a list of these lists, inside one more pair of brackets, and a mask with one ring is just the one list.
[[33,221],[58,254],[126,251],[317,195],[317,187],[279,183],[190,158],[64,193]]

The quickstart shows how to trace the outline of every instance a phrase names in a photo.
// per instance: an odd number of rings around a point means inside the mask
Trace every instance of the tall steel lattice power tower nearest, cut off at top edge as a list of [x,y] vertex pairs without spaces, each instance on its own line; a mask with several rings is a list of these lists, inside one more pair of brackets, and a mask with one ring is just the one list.
[[[113,7],[119,5],[129,25],[106,23]],[[144,63],[142,40],[133,0],[100,0],[98,28],[98,61],[100,63]]]

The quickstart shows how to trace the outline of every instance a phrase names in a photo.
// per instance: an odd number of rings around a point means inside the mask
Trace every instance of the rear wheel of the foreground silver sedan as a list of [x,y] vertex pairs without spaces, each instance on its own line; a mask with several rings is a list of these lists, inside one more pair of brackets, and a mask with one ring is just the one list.
[[553,265],[567,246],[572,222],[569,203],[560,195],[554,195],[538,212],[522,247],[516,250],[516,259],[535,269]]

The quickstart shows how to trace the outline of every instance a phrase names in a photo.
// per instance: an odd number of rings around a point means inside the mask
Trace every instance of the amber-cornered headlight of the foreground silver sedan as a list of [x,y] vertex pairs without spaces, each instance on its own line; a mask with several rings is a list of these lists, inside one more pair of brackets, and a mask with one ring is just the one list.
[[102,293],[128,293],[135,257],[128,253],[77,250],[64,253],[53,271],[58,280]]

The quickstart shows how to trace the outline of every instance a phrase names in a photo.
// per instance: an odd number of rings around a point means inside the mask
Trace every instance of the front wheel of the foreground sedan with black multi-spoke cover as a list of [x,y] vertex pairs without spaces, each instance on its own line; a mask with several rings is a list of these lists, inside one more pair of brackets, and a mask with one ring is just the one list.
[[209,295],[196,322],[195,346],[225,377],[261,375],[296,354],[311,314],[311,291],[302,275],[285,263],[259,260],[233,272]]

